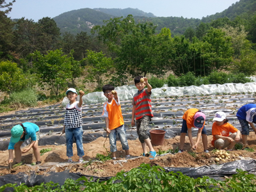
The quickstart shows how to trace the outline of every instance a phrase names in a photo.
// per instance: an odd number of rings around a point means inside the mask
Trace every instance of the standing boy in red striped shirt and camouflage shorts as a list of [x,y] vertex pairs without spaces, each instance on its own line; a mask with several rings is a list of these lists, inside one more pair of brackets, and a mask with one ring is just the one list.
[[[153,117],[152,106],[151,106],[151,90],[152,86],[148,84],[148,79],[146,77],[138,76],[134,78],[134,83],[136,88],[138,88],[138,93],[133,96],[132,99],[132,127],[135,125],[134,117],[136,117],[136,128],[141,142],[141,147],[143,149],[143,156],[147,154],[147,146],[150,150],[149,159],[154,159],[156,157],[156,151],[152,147],[151,141],[147,134],[148,124]],[[144,90],[147,85],[147,89]]]

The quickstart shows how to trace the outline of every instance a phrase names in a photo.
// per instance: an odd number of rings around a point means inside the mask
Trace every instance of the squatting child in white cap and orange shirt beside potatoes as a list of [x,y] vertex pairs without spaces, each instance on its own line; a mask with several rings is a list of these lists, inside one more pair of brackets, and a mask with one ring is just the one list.
[[236,142],[240,141],[240,131],[228,123],[223,111],[215,113],[213,121],[215,122],[212,124],[212,145],[218,149],[227,147],[228,150],[232,150]]

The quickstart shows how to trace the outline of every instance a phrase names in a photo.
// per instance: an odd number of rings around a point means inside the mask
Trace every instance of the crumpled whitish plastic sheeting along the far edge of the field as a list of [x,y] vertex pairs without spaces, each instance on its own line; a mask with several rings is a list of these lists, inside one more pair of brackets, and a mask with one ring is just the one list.
[[[252,78],[252,77],[251,77]],[[255,77],[253,77],[255,78]],[[135,93],[138,92],[134,85],[124,85],[115,88],[120,100],[132,100]],[[252,93],[256,92],[256,83],[225,83],[225,84],[202,84],[200,86],[184,86],[184,87],[168,87],[166,84],[162,88],[152,89],[152,97],[165,96],[183,96],[183,95],[212,95],[216,93]],[[79,96],[77,97],[79,100]],[[95,104],[106,102],[106,97],[103,92],[88,93],[83,96],[83,102],[86,104]],[[68,103],[67,97],[62,101],[62,106]]]

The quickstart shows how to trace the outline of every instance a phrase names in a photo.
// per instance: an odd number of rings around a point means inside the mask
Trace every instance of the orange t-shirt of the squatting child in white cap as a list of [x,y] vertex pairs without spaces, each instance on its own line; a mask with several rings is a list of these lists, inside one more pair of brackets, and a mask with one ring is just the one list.
[[214,122],[212,124],[212,146],[214,146],[214,141],[217,140],[214,135],[218,134],[227,137],[229,136],[229,132],[237,132],[237,129],[233,125],[228,123],[218,126],[216,122]]

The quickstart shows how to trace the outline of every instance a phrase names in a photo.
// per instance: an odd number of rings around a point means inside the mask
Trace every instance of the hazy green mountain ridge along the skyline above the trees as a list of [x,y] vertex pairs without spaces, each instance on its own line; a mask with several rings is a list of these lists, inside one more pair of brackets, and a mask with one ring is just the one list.
[[113,17],[126,17],[131,14],[134,16],[134,20],[148,20],[157,25],[157,33],[161,31],[161,28],[169,28],[172,35],[182,35],[184,31],[191,27],[196,28],[200,22],[211,22],[218,18],[228,17],[230,20],[235,17],[244,14],[253,14],[256,11],[255,0],[240,0],[237,3],[233,3],[226,10],[221,13],[216,13],[202,19],[187,19],[184,17],[156,17],[152,13],[145,13],[138,9],[126,8],[126,9],[107,9],[107,8],[83,8],[80,10],[72,10],[70,12],[62,13],[53,19],[56,21],[61,33],[68,31],[74,35],[81,31],[90,33],[93,26],[102,25],[103,20],[109,20]]

